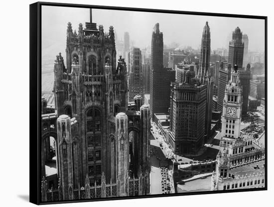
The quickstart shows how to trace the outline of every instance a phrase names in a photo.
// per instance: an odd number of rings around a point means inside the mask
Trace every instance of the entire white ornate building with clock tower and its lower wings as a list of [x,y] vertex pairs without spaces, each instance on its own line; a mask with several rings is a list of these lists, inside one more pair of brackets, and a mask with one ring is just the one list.
[[222,137],[212,175],[213,191],[265,186],[265,147],[253,136],[241,133],[241,117],[242,86],[236,65],[223,100]]

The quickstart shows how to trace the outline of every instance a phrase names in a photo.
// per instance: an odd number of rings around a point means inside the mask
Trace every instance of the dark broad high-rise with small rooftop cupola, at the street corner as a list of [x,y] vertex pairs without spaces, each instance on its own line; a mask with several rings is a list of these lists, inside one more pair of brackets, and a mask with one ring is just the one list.
[[207,85],[188,70],[185,82],[172,83],[169,143],[175,154],[197,154],[204,144]]

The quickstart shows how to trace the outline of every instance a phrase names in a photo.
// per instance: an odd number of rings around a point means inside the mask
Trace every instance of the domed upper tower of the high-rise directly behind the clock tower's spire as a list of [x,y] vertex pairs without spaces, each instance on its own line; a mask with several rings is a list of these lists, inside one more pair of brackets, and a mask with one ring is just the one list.
[[243,68],[244,59],[244,43],[242,41],[243,33],[237,26],[232,32],[232,40],[229,42],[228,63],[232,66],[237,65],[238,68]]

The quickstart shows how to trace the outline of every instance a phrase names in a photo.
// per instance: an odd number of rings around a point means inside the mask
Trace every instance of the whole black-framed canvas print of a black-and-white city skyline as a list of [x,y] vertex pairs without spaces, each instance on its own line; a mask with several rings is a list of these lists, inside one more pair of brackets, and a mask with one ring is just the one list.
[[267,190],[267,17],[30,4],[30,202]]

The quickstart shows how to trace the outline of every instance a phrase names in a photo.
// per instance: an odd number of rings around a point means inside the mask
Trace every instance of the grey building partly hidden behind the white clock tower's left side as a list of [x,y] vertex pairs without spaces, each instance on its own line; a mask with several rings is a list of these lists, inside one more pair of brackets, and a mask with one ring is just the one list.
[[219,70],[219,79],[218,79],[218,102],[217,110],[223,111],[223,102],[225,98],[226,85],[230,81],[231,77],[231,64],[228,64],[223,69]]

